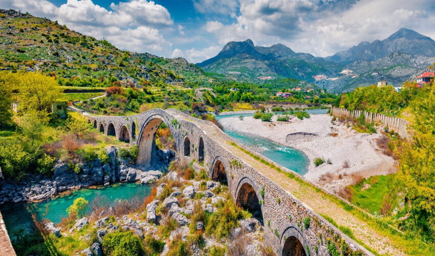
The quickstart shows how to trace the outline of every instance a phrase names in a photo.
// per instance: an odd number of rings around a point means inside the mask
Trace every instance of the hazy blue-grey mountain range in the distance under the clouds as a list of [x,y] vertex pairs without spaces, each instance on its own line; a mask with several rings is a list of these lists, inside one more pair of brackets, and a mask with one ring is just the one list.
[[435,41],[401,28],[384,40],[361,42],[329,57],[296,53],[282,44],[228,42],[215,57],[197,65],[207,72],[250,82],[279,78],[306,80],[333,92],[351,91],[379,80],[399,86],[435,61]]

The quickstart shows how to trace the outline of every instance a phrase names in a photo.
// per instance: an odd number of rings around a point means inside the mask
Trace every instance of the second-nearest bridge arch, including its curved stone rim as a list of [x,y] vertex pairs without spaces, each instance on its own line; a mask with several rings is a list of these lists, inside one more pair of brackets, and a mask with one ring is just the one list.
[[236,205],[251,212],[252,216],[263,224],[263,212],[259,204],[257,186],[250,178],[243,177],[238,182],[235,196]]

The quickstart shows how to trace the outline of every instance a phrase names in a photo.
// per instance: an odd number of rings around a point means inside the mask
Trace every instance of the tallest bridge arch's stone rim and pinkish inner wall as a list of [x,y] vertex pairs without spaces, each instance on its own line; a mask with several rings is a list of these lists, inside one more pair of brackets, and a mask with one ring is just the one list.
[[[176,137],[175,133],[172,130],[172,127],[169,125],[170,123],[163,116],[152,115],[148,117],[145,120],[145,122],[142,124],[137,139],[137,145],[139,147],[137,164],[143,166],[151,165],[151,159],[153,156],[153,147],[155,147],[154,137],[156,135],[157,129],[159,129],[159,126],[162,122],[166,123],[166,125],[169,127],[172,136]],[[177,140],[176,140],[176,144],[178,144]]]

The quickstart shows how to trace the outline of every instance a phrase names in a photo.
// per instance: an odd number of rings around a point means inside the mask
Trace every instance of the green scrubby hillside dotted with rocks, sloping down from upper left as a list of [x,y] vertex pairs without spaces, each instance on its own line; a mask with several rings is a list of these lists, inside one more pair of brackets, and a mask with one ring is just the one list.
[[107,87],[183,84],[205,79],[186,60],[121,51],[46,18],[0,10],[0,69],[41,71],[64,86]]

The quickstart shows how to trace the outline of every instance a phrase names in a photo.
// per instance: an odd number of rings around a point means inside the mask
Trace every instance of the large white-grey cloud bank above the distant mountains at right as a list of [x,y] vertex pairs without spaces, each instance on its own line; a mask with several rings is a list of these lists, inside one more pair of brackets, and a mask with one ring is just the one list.
[[433,10],[431,0],[242,0],[235,22],[212,20],[203,29],[222,45],[250,38],[258,45],[281,42],[295,51],[328,56],[364,40],[384,39],[401,27],[433,37],[435,32],[427,30]]

